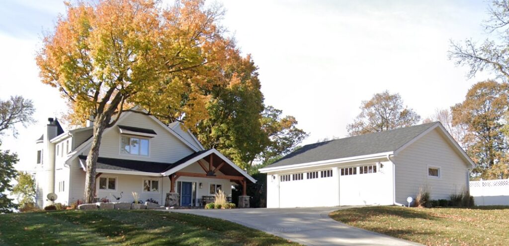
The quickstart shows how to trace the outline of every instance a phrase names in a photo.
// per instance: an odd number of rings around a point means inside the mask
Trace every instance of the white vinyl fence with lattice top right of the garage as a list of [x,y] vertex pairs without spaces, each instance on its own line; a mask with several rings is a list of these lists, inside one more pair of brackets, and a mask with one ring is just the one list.
[[509,179],[470,181],[475,205],[509,205]]

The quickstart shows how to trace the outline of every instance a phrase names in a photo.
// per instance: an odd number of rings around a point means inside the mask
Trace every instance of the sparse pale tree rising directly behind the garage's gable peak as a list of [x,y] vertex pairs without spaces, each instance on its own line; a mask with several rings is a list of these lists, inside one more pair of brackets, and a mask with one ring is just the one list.
[[449,109],[436,109],[435,114],[422,120],[423,123],[440,121],[442,126],[449,134],[462,146],[465,145],[464,137],[467,133],[467,127],[463,124],[453,124],[453,113]]

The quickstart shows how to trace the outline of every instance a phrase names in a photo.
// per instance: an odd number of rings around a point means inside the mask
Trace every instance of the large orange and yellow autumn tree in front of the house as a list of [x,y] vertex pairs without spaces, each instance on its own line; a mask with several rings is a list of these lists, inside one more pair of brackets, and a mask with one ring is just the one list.
[[43,83],[68,99],[76,122],[92,117],[85,202],[93,202],[102,133],[126,105],[195,126],[207,117],[202,92],[217,82],[215,69],[238,52],[218,25],[220,6],[181,1],[162,8],[152,0],[67,4],[37,54]]

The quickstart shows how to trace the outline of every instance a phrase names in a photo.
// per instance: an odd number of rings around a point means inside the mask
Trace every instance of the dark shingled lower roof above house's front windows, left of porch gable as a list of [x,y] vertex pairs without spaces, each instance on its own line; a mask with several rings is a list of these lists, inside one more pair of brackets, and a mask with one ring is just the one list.
[[[87,160],[87,156],[79,156],[80,160]],[[134,161],[127,159],[115,159],[115,158],[97,158],[97,169],[108,169],[108,170],[122,170],[122,171],[136,171],[136,172],[152,172],[161,173],[168,168],[174,167],[172,163],[162,162],[146,162],[146,161]]]

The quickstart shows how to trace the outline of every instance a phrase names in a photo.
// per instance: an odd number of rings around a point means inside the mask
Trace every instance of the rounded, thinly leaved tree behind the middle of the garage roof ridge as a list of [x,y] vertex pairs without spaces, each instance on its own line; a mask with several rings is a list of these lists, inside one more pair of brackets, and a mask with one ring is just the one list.
[[361,113],[347,126],[349,136],[413,126],[420,120],[416,112],[403,106],[400,94],[389,94],[387,90],[362,101],[360,109]]

